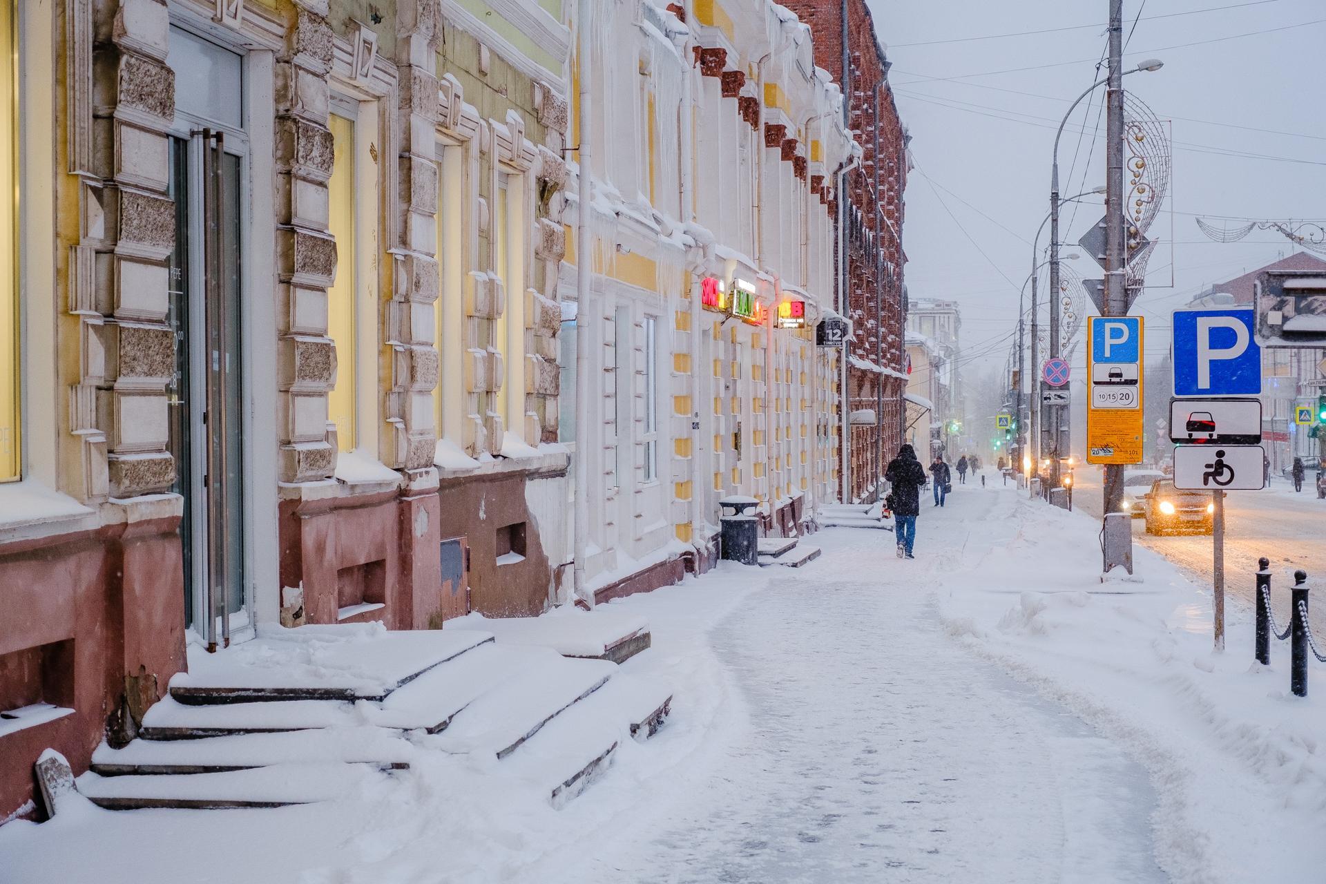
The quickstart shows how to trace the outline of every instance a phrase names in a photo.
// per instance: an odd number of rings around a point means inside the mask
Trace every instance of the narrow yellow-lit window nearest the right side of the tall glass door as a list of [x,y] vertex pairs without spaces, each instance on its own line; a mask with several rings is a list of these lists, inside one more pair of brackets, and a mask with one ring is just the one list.
[[354,119],[339,113],[332,129],[332,180],[328,182],[328,227],[335,237],[335,284],[328,289],[328,335],[335,342],[337,379],[328,396],[328,417],[335,424],[341,451],[355,447],[355,140]]

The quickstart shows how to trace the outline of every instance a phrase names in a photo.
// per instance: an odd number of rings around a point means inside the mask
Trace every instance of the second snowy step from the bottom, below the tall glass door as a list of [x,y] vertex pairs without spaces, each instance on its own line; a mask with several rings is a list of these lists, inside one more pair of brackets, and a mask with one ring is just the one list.
[[91,770],[102,777],[213,774],[314,762],[402,770],[414,753],[396,732],[359,726],[172,742],[135,740],[123,749],[102,744],[91,755]]

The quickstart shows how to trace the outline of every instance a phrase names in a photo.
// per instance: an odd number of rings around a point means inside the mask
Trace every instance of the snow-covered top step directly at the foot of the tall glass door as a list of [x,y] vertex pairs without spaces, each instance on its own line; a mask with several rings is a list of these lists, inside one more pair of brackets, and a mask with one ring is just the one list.
[[281,630],[216,653],[191,647],[170,693],[183,704],[382,700],[488,641],[488,632],[387,632],[377,623]]

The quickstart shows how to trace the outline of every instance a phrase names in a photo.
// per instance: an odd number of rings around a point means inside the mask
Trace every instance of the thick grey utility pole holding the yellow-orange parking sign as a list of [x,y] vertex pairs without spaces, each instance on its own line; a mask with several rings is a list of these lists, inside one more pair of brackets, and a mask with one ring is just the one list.
[[[1127,270],[1123,241],[1123,0],[1110,0],[1110,82],[1106,103],[1106,269],[1105,315],[1122,317],[1128,313]],[[1123,502],[1123,467],[1105,468],[1105,517],[1118,513]],[[1109,537],[1109,531],[1106,535]],[[1131,537],[1124,538],[1131,546]],[[1131,561],[1131,550],[1106,549],[1106,571],[1111,565]]]

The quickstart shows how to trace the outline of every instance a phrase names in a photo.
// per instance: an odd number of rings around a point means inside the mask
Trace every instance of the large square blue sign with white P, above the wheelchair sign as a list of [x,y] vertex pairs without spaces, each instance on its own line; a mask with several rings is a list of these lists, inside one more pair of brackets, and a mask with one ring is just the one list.
[[1261,395],[1261,347],[1250,309],[1175,310],[1175,396]]

